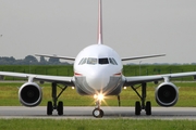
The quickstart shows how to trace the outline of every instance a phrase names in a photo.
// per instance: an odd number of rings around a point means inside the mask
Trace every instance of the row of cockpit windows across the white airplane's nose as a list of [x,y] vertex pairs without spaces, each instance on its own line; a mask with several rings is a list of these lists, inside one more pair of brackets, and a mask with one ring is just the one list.
[[96,57],[83,57],[81,62],[78,63],[79,65],[88,64],[88,65],[107,65],[107,64],[112,64],[112,65],[118,65],[117,61],[113,57],[101,57],[101,58],[96,58]]

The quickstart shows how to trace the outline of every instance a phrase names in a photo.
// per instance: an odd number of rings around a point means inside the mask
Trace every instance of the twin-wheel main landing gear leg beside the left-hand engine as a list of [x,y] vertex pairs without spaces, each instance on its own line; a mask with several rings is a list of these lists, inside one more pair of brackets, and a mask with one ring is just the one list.
[[57,83],[52,82],[52,92],[51,92],[52,102],[49,101],[47,104],[47,115],[52,115],[53,109],[57,109],[59,116],[63,115],[63,102],[62,101],[58,102],[58,99],[63,93],[63,91],[68,88],[68,86],[59,87],[61,88],[61,91],[58,95],[57,95],[57,87],[58,87]]

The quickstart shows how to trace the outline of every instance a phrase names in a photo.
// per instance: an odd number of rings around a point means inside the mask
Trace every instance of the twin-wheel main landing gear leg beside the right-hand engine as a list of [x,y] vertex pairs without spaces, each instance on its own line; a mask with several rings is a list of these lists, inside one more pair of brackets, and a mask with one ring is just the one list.
[[142,94],[137,92],[137,88],[132,86],[132,89],[139,96],[140,102],[135,102],[135,115],[140,115],[143,109],[146,110],[146,115],[151,115],[151,102],[146,102],[146,82],[142,83]]

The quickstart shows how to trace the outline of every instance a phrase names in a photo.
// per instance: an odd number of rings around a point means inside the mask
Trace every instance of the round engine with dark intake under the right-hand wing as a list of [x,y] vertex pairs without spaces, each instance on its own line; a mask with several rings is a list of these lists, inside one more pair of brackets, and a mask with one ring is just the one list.
[[172,82],[162,82],[157,87],[155,95],[160,106],[173,106],[179,100],[179,89]]

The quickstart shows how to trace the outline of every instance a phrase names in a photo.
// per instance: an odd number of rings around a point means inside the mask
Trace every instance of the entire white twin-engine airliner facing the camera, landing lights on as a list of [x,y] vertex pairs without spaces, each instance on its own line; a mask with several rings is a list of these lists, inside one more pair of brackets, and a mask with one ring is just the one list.
[[[58,99],[68,87],[75,87],[77,93],[81,95],[94,95],[96,107],[93,110],[93,115],[99,118],[103,116],[103,110],[100,108],[102,99],[107,95],[118,95],[120,102],[122,88],[131,87],[140,99],[140,101],[135,102],[135,115],[140,115],[143,109],[146,112],[146,115],[151,115],[151,103],[149,101],[146,102],[146,83],[151,81],[157,83],[159,80],[163,80],[155,90],[156,101],[160,106],[173,106],[179,99],[179,89],[170,82],[170,78],[185,76],[194,76],[195,78],[196,72],[156,76],[123,76],[122,61],[163,56],[163,54],[121,58],[113,49],[102,44],[101,0],[99,0],[98,9],[97,44],[83,49],[76,57],[37,54],[38,56],[75,61],[73,77],[0,72],[1,76],[26,77],[28,79],[19,90],[20,102],[28,107],[39,105],[42,99],[42,92],[39,84],[35,81],[51,82],[52,102],[49,101],[47,104],[47,114],[52,115],[52,112],[57,109],[59,115],[63,115],[63,102],[58,102]],[[60,93],[57,93],[58,84],[63,86]],[[140,84],[140,93],[137,91],[135,84]]]

